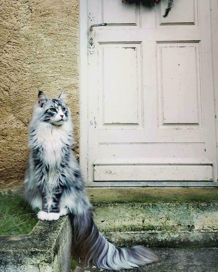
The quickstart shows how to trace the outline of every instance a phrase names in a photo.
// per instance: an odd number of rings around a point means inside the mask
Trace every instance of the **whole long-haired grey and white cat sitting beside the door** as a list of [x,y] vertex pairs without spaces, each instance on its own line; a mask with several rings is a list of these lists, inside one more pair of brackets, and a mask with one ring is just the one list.
[[157,261],[148,248],[119,248],[99,232],[71,150],[73,126],[65,93],[50,99],[40,90],[38,102],[29,125],[31,151],[25,178],[26,200],[33,209],[40,208],[38,219],[57,220],[72,213],[74,247],[86,264],[92,262],[101,269],[122,270]]

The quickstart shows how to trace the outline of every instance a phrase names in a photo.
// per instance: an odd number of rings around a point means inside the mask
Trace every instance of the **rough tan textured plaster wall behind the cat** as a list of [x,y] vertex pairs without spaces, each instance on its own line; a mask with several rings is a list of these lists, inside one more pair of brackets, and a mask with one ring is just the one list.
[[78,0],[0,3],[1,189],[23,182],[37,87],[51,96],[66,88],[78,142]]

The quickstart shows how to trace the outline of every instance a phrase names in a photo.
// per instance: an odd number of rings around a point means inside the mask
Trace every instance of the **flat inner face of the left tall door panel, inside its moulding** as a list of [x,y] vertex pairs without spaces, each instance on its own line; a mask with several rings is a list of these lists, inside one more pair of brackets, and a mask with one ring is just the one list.
[[140,44],[102,44],[103,124],[138,124],[137,51]]

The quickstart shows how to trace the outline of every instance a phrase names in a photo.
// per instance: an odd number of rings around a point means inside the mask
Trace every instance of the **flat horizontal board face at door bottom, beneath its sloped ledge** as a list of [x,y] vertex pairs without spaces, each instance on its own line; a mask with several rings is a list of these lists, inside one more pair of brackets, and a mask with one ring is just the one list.
[[211,181],[211,165],[101,165],[94,168],[95,181]]

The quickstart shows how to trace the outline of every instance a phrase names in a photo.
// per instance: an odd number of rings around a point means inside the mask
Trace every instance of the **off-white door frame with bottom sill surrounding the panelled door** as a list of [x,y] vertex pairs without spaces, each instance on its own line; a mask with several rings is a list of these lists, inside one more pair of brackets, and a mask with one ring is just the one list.
[[[218,182],[199,181],[138,181],[138,182],[88,182],[88,0],[79,0],[79,103],[80,103],[80,133],[79,158],[80,168],[87,187],[218,187]],[[216,143],[218,143],[218,8],[217,0],[211,3],[211,38],[213,56],[213,88],[215,97]],[[218,145],[216,145],[218,160]],[[217,161],[218,165],[218,161]]]

